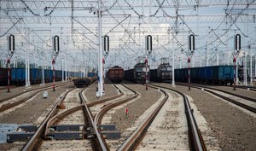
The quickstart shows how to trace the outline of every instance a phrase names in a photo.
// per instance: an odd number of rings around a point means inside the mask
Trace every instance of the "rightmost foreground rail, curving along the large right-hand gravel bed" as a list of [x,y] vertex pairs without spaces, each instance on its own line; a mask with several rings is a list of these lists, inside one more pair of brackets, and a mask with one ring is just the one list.
[[205,142],[203,141],[203,138],[201,136],[201,131],[199,130],[199,128],[196,124],[193,110],[191,109],[191,107],[189,105],[189,100],[188,100],[187,96],[185,96],[182,92],[180,92],[178,90],[174,90],[172,88],[155,85],[155,84],[151,84],[151,85],[154,85],[154,86],[166,89],[166,90],[172,90],[172,91],[176,92],[177,94],[183,96],[185,113],[186,113],[187,122],[188,122],[188,126],[189,126],[189,148],[190,148],[190,150],[195,150],[195,151],[206,151],[207,147],[206,147]]

